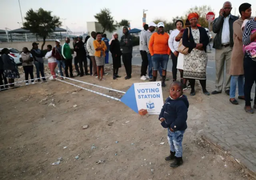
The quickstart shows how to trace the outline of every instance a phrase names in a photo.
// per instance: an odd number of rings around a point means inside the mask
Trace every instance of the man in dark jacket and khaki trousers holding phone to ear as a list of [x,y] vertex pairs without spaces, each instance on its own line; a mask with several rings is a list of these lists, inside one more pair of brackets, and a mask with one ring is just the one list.
[[212,94],[219,94],[222,92],[224,81],[224,67],[226,64],[226,80],[224,84],[224,91],[229,96],[230,93],[230,58],[234,46],[233,41],[233,23],[238,20],[237,16],[230,14],[232,10],[231,2],[224,2],[220,9],[219,17],[213,21],[212,31],[216,33],[213,42],[215,51],[215,65],[216,65],[216,84],[215,90]]

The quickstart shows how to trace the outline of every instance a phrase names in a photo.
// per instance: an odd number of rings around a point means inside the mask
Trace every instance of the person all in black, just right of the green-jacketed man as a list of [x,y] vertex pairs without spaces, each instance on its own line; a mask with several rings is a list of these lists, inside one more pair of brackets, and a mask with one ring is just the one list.
[[[75,47],[74,51],[76,51],[76,58],[78,59],[78,63],[79,63],[80,77],[82,77],[84,76],[84,72],[85,72],[85,75],[89,75],[88,68],[87,68],[87,58],[86,58],[84,43],[82,41],[83,37],[78,36],[77,40],[78,42],[74,45]],[[83,63],[84,63],[84,69],[83,69]]]

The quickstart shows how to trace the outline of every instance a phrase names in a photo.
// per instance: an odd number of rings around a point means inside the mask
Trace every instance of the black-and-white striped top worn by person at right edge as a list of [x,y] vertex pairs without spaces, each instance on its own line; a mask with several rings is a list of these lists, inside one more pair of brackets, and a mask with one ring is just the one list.
[[[244,32],[243,32],[243,44],[249,45],[251,42],[250,35],[252,35],[252,31],[256,29],[256,21],[254,19],[248,21],[244,27]],[[252,55],[249,52],[245,52],[247,55],[252,58]],[[252,58],[252,60],[256,61],[256,58]]]

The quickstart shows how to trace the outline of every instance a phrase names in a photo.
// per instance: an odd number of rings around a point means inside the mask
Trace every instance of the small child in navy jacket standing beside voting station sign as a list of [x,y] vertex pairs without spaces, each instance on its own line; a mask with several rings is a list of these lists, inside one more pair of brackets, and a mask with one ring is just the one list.
[[164,128],[168,129],[167,139],[170,144],[170,155],[164,160],[171,162],[170,168],[182,165],[182,139],[187,129],[188,99],[183,95],[182,84],[172,82],[169,90],[170,96],[166,99],[159,115],[159,120]]

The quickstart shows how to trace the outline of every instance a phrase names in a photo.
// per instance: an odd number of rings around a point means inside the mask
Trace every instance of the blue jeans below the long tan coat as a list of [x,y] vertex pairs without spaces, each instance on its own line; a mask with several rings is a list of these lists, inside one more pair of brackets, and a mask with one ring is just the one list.
[[236,83],[238,83],[238,96],[244,96],[244,75],[231,76],[230,98],[236,96]]

